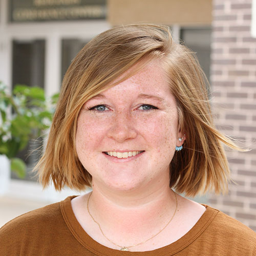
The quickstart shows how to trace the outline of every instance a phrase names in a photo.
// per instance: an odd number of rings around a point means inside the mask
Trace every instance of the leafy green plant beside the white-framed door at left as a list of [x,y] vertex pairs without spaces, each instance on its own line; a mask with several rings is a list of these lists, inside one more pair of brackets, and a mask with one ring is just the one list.
[[0,82],[0,155],[10,159],[11,170],[20,178],[26,175],[26,164],[16,155],[49,129],[57,99],[58,94],[46,98],[41,88],[24,85],[8,94]]

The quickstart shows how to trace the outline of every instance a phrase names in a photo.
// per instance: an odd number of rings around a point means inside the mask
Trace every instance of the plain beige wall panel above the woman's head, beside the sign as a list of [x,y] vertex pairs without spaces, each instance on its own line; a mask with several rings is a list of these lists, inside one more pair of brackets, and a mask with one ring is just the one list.
[[211,10],[212,0],[108,0],[108,22],[210,25]]

